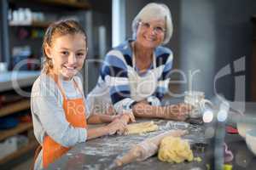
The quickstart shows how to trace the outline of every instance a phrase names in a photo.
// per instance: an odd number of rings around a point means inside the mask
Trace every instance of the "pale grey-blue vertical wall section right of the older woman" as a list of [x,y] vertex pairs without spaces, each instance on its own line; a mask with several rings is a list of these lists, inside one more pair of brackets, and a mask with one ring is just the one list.
[[[217,38],[213,3],[207,0],[181,1],[180,68],[189,82],[183,86],[184,90],[212,91]],[[192,79],[189,71],[197,71]]]

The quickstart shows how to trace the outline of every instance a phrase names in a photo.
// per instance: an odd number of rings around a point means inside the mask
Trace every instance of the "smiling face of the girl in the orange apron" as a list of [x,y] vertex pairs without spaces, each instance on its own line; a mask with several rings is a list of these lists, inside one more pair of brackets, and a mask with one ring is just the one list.
[[52,59],[55,75],[70,80],[84,65],[87,53],[85,37],[82,34],[54,37],[51,47],[47,46],[45,52]]

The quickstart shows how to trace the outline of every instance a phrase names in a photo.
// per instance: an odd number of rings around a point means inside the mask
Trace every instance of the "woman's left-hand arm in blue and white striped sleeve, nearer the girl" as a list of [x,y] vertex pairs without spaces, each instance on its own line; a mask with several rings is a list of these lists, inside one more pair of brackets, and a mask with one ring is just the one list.
[[134,122],[130,109],[135,100],[131,99],[128,79],[129,63],[129,57],[125,57],[118,49],[113,49],[105,58],[101,77],[109,87],[109,95],[114,111],[119,115],[122,114],[125,122]]

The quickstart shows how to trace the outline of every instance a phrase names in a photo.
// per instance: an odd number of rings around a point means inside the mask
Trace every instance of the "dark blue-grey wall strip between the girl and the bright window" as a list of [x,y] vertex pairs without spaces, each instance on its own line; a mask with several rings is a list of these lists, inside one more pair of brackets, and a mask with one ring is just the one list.
[[[90,39],[89,54],[84,65],[84,91],[88,94],[95,87],[104,55],[100,42],[105,42],[106,53],[112,48],[112,1],[91,0],[92,9],[87,13],[86,31]],[[99,37],[99,27],[104,26],[106,37]],[[105,40],[104,40],[105,39]]]

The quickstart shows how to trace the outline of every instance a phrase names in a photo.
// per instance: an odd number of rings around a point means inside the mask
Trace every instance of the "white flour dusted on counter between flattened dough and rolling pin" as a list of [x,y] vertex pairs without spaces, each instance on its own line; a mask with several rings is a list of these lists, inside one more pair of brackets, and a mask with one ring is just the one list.
[[[186,122],[156,122],[160,129],[151,133],[143,133],[141,135],[128,135],[128,136],[105,136],[100,139],[94,139],[86,142],[84,148],[80,150],[80,153],[90,156],[114,156],[125,153],[131,149],[131,146],[138,144],[144,139],[152,138],[160,133],[164,133],[172,129],[189,129],[191,133],[184,136],[185,139],[194,141],[203,138],[202,129],[195,130],[195,125],[190,125]],[[202,135],[202,136],[201,136]],[[122,147],[120,147],[122,146]]]

